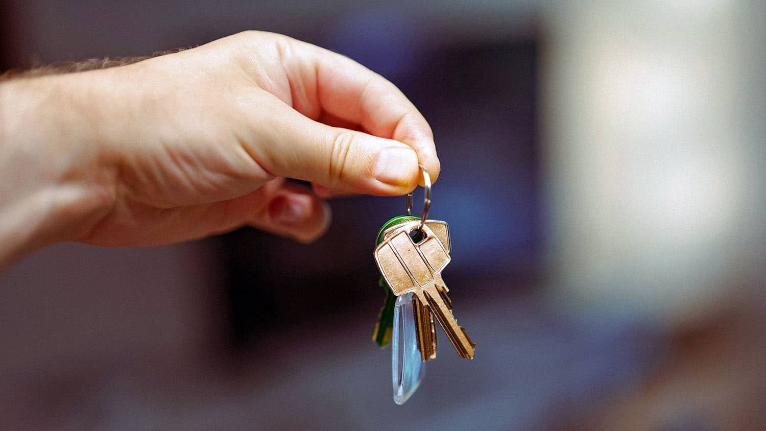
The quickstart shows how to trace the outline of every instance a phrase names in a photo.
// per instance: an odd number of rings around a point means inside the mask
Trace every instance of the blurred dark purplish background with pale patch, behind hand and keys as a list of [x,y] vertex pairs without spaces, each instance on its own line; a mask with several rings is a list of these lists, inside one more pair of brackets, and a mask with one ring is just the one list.
[[478,344],[462,361],[440,333],[394,405],[372,248],[404,197],[332,201],[311,245],[64,243],[0,275],[0,424],[763,429],[764,17],[734,0],[0,0],[0,70],[257,29],[396,83],[434,129],[430,214]]

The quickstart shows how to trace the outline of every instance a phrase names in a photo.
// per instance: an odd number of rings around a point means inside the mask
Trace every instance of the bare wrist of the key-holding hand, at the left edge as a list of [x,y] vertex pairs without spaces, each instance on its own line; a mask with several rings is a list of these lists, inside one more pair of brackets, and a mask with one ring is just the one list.
[[115,201],[77,74],[0,84],[0,269],[25,253],[77,240]]

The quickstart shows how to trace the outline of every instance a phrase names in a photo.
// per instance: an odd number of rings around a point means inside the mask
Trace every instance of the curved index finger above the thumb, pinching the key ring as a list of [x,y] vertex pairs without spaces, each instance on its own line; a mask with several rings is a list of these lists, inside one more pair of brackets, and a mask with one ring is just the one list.
[[280,56],[294,109],[314,119],[329,113],[372,135],[404,142],[436,181],[440,163],[434,134],[401,90],[349,57],[295,39],[286,41]]

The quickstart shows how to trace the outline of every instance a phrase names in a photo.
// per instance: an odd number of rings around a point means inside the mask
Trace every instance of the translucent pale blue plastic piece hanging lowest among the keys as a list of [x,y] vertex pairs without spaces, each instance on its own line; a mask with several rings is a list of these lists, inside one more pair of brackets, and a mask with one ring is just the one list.
[[[417,299],[415,299],[417,301]],[[425,362],[417,350],[417,334],[411,293],[396,298],[394,330],[391,337],[391,377],[394,403],[401,406],[420,386],[425,374]]]

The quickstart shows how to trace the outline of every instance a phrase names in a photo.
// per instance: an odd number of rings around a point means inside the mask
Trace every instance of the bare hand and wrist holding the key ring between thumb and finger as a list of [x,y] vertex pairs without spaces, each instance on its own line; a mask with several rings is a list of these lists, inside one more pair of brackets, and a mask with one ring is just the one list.
[[316,194],[405,194],[418,161],[435,181],[430,127],[393,84],[280,34],[0,85],[0,181],[17,186],[0,192],[0,211],[17,220],[6,230],[35,227],[15,234],[19,250],[244,224],[309,241],[329,224]]

